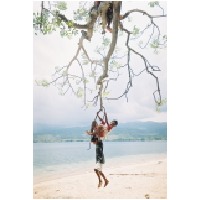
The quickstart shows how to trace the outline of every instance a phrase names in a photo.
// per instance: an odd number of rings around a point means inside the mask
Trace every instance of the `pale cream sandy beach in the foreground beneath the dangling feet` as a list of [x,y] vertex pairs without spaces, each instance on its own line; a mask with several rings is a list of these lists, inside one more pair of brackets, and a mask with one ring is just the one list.
[[34,179],[34,199],[167,199],[166,155],[121,163],[103,172],[109,184],[98,188],[93,169],[49,180]]

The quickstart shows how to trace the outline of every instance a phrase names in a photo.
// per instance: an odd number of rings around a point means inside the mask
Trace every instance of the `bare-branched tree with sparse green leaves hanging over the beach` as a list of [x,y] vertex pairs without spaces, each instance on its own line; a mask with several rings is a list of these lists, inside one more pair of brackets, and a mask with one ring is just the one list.
[[[158,20],[167,17],[162,3],[146,2],[150,8],[157,8],[159,14],[134,7],[122,13],[123,5],[128,4],[125,1],[113,1],[110,4],[105,1],[98,5],[92,1],[78,3],[72,18],[67,15],[70,2],[42,1],[40,12],[33,13],[35,35],[59,31],[61,37],[79,38],[76,54],[71,61],[56,67],[51,81],[36,81],[37,85],[54,85],[61,95],[71,90],[75,96],[83,99],[84,107],[91,104],[97,106],[99,103],[102,111],[105,100],[125,97],[128,101],[134,79],[146,72],[155,79],[153,98],[159,110],[159,106],[166,102],[161,97],[157,76],[160,66],[151,63],[145,52],[158,54],[166,48],[166,33],[158,25]],[[134,2],[129,4],[134,6]],[[110,8],[111,14],[106,15]],[[108,29],[107,16],[112,20],[112,28]],[[112,87],[117,87],[121,77],[126,82],[124,91],[112,94]]]

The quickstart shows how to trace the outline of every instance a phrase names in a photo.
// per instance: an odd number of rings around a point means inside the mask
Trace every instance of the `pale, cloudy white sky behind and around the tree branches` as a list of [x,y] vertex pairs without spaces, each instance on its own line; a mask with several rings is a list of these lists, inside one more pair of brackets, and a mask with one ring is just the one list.
[[[76,2],[77,3],[77,2]],[[130,3],[130,2],[129,2]],[[37,10],[40,4],[33,4],[33,9]],[[76,7],[72,2],[68,3],[70,11]],[[122,13],[127,11],[127,8],[141,8],[154,14],[162,13],[160,9],[153,9],[148,6],[148,2],[132,2],[123,4]],[[166,9],[166,3],[162,6]],[[70,14],[69,14],[70,16]],[[72,16],[72,15],[71,15]],[[134,16],[135,17],[135,16]],[[140,23],[145,23],[144,18],[139,18],[136,15],[135,20]],[[159,20],[158,20],[159,21]],[[156,21],[157,22],[157,21]],[[166,34],[167,20],[160,19],[158,23],[162,34]],[[111,34],[110,34],[111,35]],[[109,33],[106,33],[107,37]],[[51,75],[55,72],[55,66],[64,66],[75,55],[77,49],[77,40],[61,38],[59,33],[50,35],[33,35],[33,121],[34,124],[53,124],[66,127],[85,126],[90,124],[96,117],[99,106],[83,109],[81,99],[67,93],[65,96],[60,96],[58,89],[54,86],[47,88],[37,86],[35,80],[51,80]],[[96,45],[99,41],[98,36],[92,38],[93,44]],[[119,39],[118,46],[123,46],[125,40]],[[91,42],[92,43],[92,42]],[[92,45],[86,44],[88,51],[92,51]],[[90,51],[90,52],[91,52]],[[151,49],[144,52],[152,64],[158,65],[161,72],[157,73],[160,81],[161,96],[167,98],[167,49],[160,50],[158,55],[155,55]],[[136,62],[139,62],[136,60]],[[140,65],[140,64],[139,64]],[[111,91],[117,96],[124,91],[124,83],[126,76],[125,72],[121,77],[121,82],[118,81],[113,85]],[[148,74],[143,73],[138,78],[133,79],[133,87],[128,93],[128,102],[126,98],[119,100],[104,101],[104,107],[108,113],[110,120],[117,119],[119,123],[133,121],[167,121],[166,105],[161,109],[161,112],[156,112],[153,92],[156,90],[155,79]]]

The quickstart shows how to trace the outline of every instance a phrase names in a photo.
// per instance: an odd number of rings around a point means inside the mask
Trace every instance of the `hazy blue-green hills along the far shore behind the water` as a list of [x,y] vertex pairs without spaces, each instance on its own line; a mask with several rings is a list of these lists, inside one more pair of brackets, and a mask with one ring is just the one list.
[[[66,128],[45,124],[34,124],[33,142],[73,142],[89,141],[85,134],[90,127]],[[162,122],[130,122],[119,124],[114,128],[106,141],[145,141],[167,140],[167,123]]]

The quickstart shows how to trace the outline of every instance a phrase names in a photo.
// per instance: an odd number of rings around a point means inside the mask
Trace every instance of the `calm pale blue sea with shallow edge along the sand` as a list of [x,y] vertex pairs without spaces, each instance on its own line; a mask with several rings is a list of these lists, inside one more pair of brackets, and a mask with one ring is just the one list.
[[[167,141],[104,142],[104,168],[115,168],[167,155]],[[90,173],[96,166],[96,146],[88,142],[34,143],[35,182]]]

